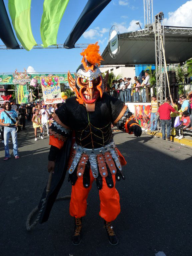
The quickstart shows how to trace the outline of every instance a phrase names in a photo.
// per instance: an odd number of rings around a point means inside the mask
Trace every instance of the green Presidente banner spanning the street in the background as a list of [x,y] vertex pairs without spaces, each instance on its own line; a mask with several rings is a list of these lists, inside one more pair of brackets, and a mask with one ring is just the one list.
[[[19,74],[19,75],[18,75]],[[40,77],[41,76],[48,76],[50,74],[25,74],[25,72],[21,72],[18,74],[3,74],[0,75],[0,85],[1,84],[22,84],[22,83],[30,83],[32,78],[36,78],[37,82],[40,84]],[[60,84],[68,83],[67,74],[52,74],[54,76],[59,77]],[[74,78],[74,74],[71,74]]]

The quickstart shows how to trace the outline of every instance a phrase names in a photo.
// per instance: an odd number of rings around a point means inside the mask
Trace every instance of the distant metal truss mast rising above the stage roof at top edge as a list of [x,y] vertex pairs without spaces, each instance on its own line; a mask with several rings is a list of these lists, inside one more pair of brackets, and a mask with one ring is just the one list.
[[153,32],[153,0],[143,0],[145,32]]

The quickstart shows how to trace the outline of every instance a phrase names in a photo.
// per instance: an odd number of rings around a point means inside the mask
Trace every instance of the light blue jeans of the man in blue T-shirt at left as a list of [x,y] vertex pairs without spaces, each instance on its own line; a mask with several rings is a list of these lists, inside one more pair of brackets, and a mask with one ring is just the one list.
[[7,127],[4,126],[4,145],[5,145],[5,157],[10,157],[9,154],[9,136],[11,133],[11,137],[13,140],[13,154],[14,156],[18,156],[18,146],[17,146],[17,132],[15,127]]

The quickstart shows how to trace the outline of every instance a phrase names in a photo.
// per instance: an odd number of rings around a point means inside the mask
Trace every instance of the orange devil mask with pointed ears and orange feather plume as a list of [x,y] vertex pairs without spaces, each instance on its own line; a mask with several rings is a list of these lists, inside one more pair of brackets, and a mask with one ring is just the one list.
[[69,86],[75,92],[77,101],[85,104],[88,112],[95,111],[95,102],[102,98],[104,88],[107,86],[108,73],[103,79],[100,69],[102,59],[99,54],[99,45],[90,44],[81,53],[82,64],[77,68],[75,79],[68,71]]

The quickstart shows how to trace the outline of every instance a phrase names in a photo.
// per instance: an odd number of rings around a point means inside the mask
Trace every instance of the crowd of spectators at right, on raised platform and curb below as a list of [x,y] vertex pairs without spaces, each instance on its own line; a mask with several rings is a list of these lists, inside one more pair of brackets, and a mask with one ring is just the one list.
[[[156,95],[152,95],[152,88],[149,82],[149,73],[141,78],[142,82],[134,77],[134,83],[131,78],[112,81],[112,89],[108,88],[108,93],[123,102],[151,102],[150,106],[150,131],[157,130],[158,120],[162,130],[162,138],[165,140],[165,131],[167,130],[167,139],[170,140],[170,132],[176,138],[183,138],[183,130],[192,130],[192,92],[186,95],[180,95],[179,101],[168,97],[161,106],[157,103]],[[179,120],[179,121],[178,121]],[[186,121],[187,120],[187,121]],[[167,129],[166,129],[167,127]],[[178,132],[179,129],[179,132]]]

